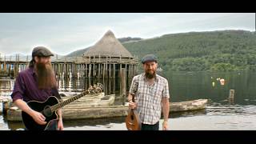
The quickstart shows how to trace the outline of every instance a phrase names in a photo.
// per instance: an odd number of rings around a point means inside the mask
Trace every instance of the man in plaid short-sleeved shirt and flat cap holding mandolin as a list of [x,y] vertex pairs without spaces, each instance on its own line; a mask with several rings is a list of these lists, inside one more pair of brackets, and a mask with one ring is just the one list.
[[[156,74],[158,59],[154,54],[142,58],[144,73],[134,76],[128,102],[130,109],[138,112],[142,122],[141,130],[159,130],[161,112],[163,113],[162,130],[168,130],[169,87],[166,78]],[[137,91],[134,93],[134,84]],[[134,94],[135,102],[132,102]]]

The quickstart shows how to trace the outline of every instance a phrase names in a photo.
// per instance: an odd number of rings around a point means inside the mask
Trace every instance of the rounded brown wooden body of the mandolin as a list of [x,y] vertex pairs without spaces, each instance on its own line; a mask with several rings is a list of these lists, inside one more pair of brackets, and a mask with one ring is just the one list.
[[127,130],[141,130],[142,123],[136,110],[130,109],[126,117]]

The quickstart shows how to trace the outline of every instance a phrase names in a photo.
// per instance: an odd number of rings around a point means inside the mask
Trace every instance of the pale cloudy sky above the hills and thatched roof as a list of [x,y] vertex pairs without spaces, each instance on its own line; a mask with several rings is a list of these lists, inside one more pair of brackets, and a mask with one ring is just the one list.
[[191,31],[255,31],[255,13],[0,13],[0,54],[30,55],[35,46],[66,55],[116,38]]

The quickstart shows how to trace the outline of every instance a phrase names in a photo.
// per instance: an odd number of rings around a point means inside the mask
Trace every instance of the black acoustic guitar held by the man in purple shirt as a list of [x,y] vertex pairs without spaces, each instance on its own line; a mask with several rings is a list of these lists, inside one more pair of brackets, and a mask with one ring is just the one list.
[[97,85],[90,86],[88,90],[82,92],[82,94],[78,94],[72,98],[67,99],[63,102],[58,102],[58,99],[54,96],[50,96],[46,99],[45,102],[38,101],[30,101],[27,102],[27,105],[30,106],[32,110],[36,110],[42,113],[46,117],[46,125],[39,125],[34,119],[26,112],[22,111],[22,121],[26,126],[27,130],[47,130],[53,121],[58,119],[57,110],[66,106],[70,102],[74,102],[78,98],[82,98],[86,94],[99,94],[102,93],[103,86],[98,83]]

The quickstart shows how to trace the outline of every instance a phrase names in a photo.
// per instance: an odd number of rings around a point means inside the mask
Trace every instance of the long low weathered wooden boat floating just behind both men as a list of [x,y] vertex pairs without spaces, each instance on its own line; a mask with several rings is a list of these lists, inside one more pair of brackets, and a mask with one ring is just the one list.
[[[197,99],[186,102],[170,102],[170,113],[206,109],[207,99]],[[85,118],[124,117],[128,114],[128,106],[71,106],[62,108],[63,120]],[[22,121],[22,110],[11,107],[7,110],[7,120]]]

